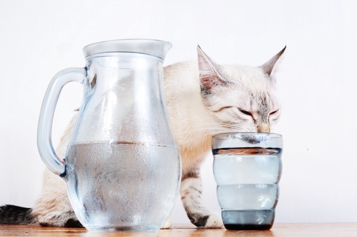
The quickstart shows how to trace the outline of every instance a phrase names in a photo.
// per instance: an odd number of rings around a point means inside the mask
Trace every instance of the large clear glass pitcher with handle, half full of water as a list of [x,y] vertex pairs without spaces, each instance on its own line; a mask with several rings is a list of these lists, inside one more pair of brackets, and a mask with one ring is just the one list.
[[[59,72],[46,91],[38,149],[67,183],[79,221],[94,231],[156,231],[173,209],[181,181],[163,93],[163,60],[171,43],[126,39],[87,45],[84,68]],[[67,154],[51,141],[62,87],[80,82],[84,98]]]

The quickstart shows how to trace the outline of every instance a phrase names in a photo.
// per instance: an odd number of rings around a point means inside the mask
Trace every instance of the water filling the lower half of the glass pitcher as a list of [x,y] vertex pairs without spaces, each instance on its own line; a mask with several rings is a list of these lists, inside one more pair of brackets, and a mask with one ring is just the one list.
[[[160,228],[165,220],[150,218],[168,218],[176,199],[172,185],[177,185],[179,177],[167,174],[180,169],[180,159],[173,156],[179,156],[176,147],[160,144],[117,141],[71,145],[67,155],[71,159],[67,161],[67,172],[72,172],[67,176],[68,192],[75,197],[71,202],[80,214],[79,220],[92,230],[100,226],[140,230],[145,226],[147,231],[147,223],[151,223],[152,230]],[[167,213],[152,215],[157,211]]]

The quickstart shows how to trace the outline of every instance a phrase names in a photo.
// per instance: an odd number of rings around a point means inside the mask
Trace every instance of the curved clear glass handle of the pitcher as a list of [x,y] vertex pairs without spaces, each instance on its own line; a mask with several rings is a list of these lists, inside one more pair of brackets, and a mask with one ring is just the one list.
[[87,78],[87,70],[83,67],[73,67],[61,70],[50,81],[42,102],[37,130],[37,147],[43,162],[48,169],[57,175],[65,172],[65,161],[59,158],[52,145],[51,133],[55,108],[61,90],[68,82],[82,82]]

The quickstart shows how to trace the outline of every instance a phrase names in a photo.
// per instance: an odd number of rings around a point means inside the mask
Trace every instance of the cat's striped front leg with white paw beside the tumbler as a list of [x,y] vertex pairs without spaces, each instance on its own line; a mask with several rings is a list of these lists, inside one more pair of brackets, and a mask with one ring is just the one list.
[[199,171],[183,174],[180,195],[192,224],[204,228],[221,228],[223,226],[220,215],[211,213],[202,205],[202,180]]

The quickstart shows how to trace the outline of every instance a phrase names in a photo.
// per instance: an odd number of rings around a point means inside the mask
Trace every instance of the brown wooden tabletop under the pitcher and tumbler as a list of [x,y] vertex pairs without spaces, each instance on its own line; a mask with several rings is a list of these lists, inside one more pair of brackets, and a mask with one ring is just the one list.
[[229,236],[357,236],[357,223],[274,224],[268,231],[234,231],[197,229],[188,224],[176,224],[172,229],[145,232],[88,232],[84,228],[55,228],[29,225],[0,225],[0,236],[134,236],[134,237],[229,237]]

